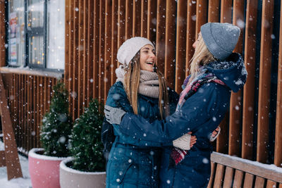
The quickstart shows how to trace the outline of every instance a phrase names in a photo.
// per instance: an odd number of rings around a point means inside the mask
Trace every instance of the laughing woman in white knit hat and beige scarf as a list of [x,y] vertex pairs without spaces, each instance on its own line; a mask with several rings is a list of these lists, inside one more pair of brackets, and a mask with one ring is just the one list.
[[[178,94],[167,89],[156,65],[152,42],[143,37],[128,39],[118,49],[117,57],[121,63],[116,69],[118,79],[109,89],[106,105],[141,115],[149,122],[162,120],[170,110],[175,111]],[[113,126],[116,138],[109,153],[106,187],[159,187],[161,146],[172,146],[172,142],[148,142]],[[103,142],[109,133],[102,132]],[[175,146],[182,143],[183,149],[190,149],[195,144],[195,137],[190,142],[190,134],[185,139]]]

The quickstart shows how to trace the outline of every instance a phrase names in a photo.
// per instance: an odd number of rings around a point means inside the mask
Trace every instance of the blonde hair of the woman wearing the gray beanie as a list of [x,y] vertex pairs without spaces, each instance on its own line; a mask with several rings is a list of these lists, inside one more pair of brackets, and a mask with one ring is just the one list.
[[209,52],[209,49],[207,49],[207,45],[204,44],[204,39],[202,36],[199,36],[198,38],[199,42],[197,44],[197,47],[195,49],[195,53],[191,58],[190,63],[190,82],[194,80],[195,77],[197,77],[199,73],[200,66],[207,65],[209,62],[216,61],[216,58],[212,55],[211,52]]

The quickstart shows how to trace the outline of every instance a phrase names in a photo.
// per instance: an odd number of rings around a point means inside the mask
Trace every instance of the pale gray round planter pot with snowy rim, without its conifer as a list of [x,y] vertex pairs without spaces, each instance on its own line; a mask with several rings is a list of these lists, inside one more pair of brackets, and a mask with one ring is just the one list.
[[62,188],[104,188],[106,187],[106,172],[88,173],[68,167],[73,158],[67,158],[60,163],[60,184]]

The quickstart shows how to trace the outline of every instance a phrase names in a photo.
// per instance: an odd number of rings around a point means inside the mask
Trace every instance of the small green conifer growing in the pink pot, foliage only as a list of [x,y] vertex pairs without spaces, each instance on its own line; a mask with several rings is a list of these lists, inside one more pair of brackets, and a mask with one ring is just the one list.
[[47,156],[69,156],[68,139],[72,120],[68,113],[68,91],[63,82],[53,87],[49,112],[42,119],[40,142]]

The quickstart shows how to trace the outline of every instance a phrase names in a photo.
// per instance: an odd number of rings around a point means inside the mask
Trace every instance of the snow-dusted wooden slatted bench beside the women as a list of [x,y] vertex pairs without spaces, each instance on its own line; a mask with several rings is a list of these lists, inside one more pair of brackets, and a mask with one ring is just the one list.
[[282,168],[213,152],[211,187],[282,188]]

